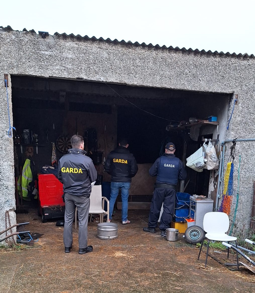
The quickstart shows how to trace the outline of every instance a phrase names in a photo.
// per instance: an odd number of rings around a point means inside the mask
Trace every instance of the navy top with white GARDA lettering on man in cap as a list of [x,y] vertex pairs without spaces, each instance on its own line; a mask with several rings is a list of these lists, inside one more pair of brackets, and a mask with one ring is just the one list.
[[174,154],[163,154],[156,159],[151,166],[149,173],[151,176],[157,176],[156,183],[176,185],[179,180],[185,180],[187,173],[182,161]]

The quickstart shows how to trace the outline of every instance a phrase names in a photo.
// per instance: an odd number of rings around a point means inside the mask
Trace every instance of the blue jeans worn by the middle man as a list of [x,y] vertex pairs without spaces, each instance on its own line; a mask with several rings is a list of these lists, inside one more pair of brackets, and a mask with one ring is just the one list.
[[110,197],[110,212],[109,219],[112,219],[113,207],[116,202],[116,198],[121,189],[121,200],[122,200],[122,211],[121,211],[121,220],[127,221],[127,208],[128,208],[128,195],[130,188],[130,182],[111,182],[111,197]]

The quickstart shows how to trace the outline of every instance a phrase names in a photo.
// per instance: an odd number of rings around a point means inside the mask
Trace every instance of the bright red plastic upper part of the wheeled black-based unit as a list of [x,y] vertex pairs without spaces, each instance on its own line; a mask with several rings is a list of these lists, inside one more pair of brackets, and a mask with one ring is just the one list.
[[52,205],[64,206],[63,184],[53,174],[40,174],[38,176],[39,201],[41,207]]

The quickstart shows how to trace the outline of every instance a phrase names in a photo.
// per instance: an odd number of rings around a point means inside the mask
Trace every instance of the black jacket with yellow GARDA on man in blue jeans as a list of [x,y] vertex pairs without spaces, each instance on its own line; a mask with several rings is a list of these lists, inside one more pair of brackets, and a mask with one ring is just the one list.
[[131,182],[138,171],[135,157],[125,147],[117,147],[108,154],[104,166],[111,182]]

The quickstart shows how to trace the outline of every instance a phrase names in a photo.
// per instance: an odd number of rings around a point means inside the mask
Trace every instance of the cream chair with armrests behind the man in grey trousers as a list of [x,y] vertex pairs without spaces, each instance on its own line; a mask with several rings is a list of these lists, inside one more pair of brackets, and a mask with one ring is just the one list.
[[[102,223],[104,220],[104,214],[107,215],[107,222],[109,221],[109,200],[102,196],[102,187],[101,185],[94,185],[91,189],[90,194],[90,206],[89,206],[89,214],[91,223],[92,215],[99,214],[99,222]],[[107,202],[107,211],[104,210],[104,202]],[[75,209],[75,229],[77,229],[77,207]]]

